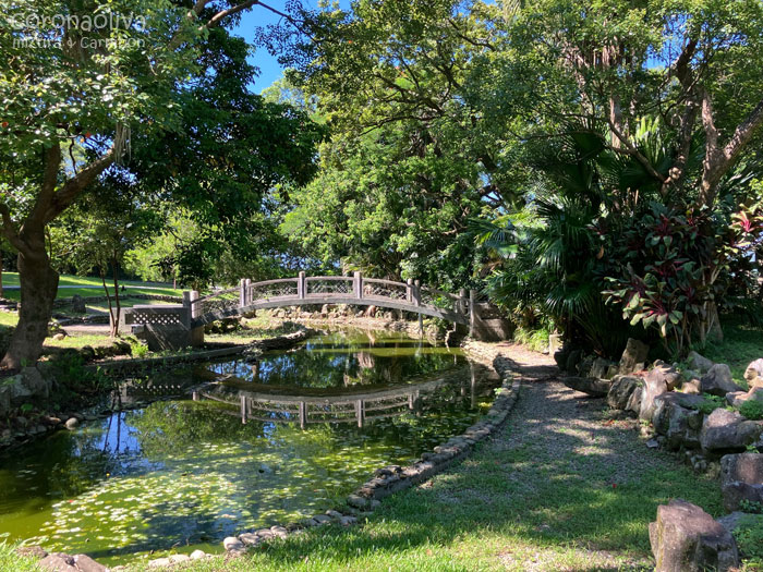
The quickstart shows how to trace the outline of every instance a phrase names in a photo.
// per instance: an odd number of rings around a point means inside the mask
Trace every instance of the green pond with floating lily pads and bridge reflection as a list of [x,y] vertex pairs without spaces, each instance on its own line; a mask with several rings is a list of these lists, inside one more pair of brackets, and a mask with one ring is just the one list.
[[221,539],[341,504],[473,424],[498,379],[460,350],[335,331],[254,363],[125,384],[160,401],[0,458],[0,536],[106,564]]

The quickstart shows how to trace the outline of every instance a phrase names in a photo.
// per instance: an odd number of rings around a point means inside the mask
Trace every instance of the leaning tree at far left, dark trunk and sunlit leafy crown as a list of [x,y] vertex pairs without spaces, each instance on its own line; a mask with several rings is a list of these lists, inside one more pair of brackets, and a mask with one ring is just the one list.
[[19,252],[22,295],[3,366],[36,360],[47,334],[58,288],[48,224],[129,162],[136,135],[182,129],[178,96],[213,69],[203,47],[254,5],[272,10],[256,0],[0,2],[0,26],[11,31],[0,37],[0,217]]

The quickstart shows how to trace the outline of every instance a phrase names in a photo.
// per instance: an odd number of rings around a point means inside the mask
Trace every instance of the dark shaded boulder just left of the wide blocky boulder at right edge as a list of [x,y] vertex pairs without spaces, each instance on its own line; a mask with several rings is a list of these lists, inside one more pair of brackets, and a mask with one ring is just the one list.
[[698,449],[702,413],[698,407],[704,402],[700,395],[689,395],[675,391],[657,395],[654,400],[652,424],[655,430],[666,437],[670,449]]

